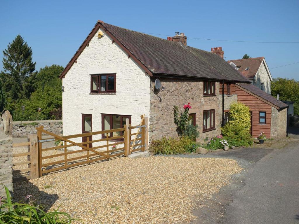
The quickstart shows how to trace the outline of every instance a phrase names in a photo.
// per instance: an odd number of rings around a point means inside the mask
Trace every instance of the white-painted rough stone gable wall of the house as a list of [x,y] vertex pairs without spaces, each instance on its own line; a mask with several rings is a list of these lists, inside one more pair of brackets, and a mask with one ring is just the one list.
[[[131,115],[132,125],[140,123],[141,114],[149,116],[149,75],[101,31],[103,37],[98,39],[98,32],[95,34],[77,58],[77,64],[62,79],[63,135],[82,132],[83,113],[92,115],[92,131],[102,130],[102,113]],[[116,93],[90,94],[90,74],[103,73],[116,73]],[[100,138],[100,135],[93,136],[93,140]],[[81,138],[72,140],[81,142]],[[93,147],[100,143],[94,143]]]

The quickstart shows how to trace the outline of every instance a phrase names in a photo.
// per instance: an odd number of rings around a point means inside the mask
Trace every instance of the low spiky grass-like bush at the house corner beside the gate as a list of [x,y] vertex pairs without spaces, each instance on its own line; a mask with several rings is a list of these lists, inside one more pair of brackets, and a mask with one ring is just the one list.
[[152,140],[149,151],[153,154],[173,155],[195,152],[197,147],[196,142],[187,136],[177,139],[162,137],[159,140]]

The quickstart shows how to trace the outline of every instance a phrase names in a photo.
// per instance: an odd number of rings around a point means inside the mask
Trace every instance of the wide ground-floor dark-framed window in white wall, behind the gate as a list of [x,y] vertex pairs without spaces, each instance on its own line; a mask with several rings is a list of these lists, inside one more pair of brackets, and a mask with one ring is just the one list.
[[[126,124],[126,119],[129,118],[131,124],[131,116],[129,115],[117,115],[117,114],[102,114],[102,131],[123,128]],[[102,138],[106,138],[107,133],[102,134]],[[117,131],[109,134],[109,137],[123,136],[123,131]],[[123,140],[123,137],[115,140]]]

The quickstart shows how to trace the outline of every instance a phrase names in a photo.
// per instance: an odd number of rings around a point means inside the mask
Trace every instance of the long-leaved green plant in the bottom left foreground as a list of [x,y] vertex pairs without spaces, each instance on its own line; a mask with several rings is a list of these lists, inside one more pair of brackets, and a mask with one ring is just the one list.
[[15,224],[56,224],[56,223],[72,223],[77,220],[73,219],[65,212],[57,210],[45,212],[42,209],[28,205],[13,202],[10,198],[8,188],[4,185],[6,199],[1,199],[0,205],[0,224],[15,223]]

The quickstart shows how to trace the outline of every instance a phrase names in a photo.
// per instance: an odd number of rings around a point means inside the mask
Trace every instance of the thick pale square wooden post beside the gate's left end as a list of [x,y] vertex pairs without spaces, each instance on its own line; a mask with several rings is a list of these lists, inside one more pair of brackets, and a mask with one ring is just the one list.
[[[28,168],[31,168],[30,174],[31,179],[36,179],[39,177],[39,159],[38,159],[38,146],[37,146],[37,134],[29,134],[28,140],[30,145],[28,146],[28,151],[30,151],[30,164]],[[29,156],[28,156],[29,157]]]

